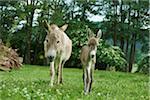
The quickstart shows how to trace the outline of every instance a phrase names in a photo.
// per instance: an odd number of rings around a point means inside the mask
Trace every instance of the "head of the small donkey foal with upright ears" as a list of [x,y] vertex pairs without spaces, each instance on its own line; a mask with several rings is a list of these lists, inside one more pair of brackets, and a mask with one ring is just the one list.
[[102,36],[101,30],[97,32],[97,35],[94,36],[92,31],[89,29],[88,30],[88,46],[89,46],[89,56],[91,59],[96,57],[96,52],[97,52],[97,45],[99,44],[99,39]]

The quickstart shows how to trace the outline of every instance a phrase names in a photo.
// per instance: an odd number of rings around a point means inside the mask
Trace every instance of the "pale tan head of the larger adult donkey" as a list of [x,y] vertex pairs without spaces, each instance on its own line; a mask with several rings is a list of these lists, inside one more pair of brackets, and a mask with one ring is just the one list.
[[47,35],[44,41],[45,57],[49,58],[50,62],[60,55],[64,44],[64,31],[67,29],[67,24],[59,28],[57,25],[49,25],[44,21],[44,27]]

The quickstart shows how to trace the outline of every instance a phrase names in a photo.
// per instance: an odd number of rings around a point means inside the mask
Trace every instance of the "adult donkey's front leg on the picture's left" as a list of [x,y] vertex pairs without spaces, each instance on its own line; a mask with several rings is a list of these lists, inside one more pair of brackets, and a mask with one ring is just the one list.
[[51,76],[50,86],[53,86],[54,85],[54,79],[55,79],[54,62],[51,62],[51,64],[50,64],[50,76]]

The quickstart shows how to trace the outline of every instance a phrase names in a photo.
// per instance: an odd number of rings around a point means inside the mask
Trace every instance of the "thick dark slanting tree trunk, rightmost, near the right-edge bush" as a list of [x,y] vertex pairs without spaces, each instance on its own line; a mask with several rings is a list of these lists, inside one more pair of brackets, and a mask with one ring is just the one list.
[[134,58],[135,58],[135,47],[136,47],[136,34],[134,33],[132,35],[132,44],[131,44],[131,49],[130,49],[130,58],[129,58],[129,67],[128,71],[131,72],[132,66],[134,63]]

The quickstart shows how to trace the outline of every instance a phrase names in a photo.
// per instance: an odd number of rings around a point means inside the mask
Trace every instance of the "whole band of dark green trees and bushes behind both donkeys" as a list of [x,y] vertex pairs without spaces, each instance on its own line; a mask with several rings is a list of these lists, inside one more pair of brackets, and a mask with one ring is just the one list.
[[[73,52],[65,67],[80,68],[87,28],[94,33],[101,29],[98,69],[115,67],[131,72],[136,63],[140,62],[141,68],[148,55],[149,13],[149,0],[1,0],[0,39],[17,48],[25,64],[45,65],[43,20],[58,26],[67,23]],[[91,21],[91,14],[104,16],[103,21]]]

